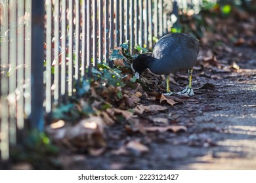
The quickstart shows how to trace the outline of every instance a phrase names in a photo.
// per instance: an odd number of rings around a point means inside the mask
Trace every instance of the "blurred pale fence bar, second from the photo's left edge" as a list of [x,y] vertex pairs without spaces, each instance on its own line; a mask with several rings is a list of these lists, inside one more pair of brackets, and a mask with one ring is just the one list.
[[9,101],[9,124],[10,124],[10,128],[9,128],[9,133],[10,133],[10,143],[11,144],[15,144],[16,143],[16,94],[15,94],[15,90],[16,90],[16,59],[17,59],[17,55],[16,55],[16,41],[17,41],[17,37],[16,37],[16,22],[17,22],[17,4],[16,1],[11,0],[9,3],[9,7],[10,7],[10,19],[9,22],[12,22],[12,24],[9,25],[10,27],[10,67],[12,69],[12,73],[9,76],[9,97],[8,97],[8,101]]

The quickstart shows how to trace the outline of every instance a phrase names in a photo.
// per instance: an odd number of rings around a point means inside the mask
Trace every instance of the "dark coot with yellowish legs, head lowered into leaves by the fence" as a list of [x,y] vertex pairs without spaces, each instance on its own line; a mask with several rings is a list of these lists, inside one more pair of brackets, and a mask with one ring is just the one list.
[[188,70],[189,84],[178,94],[193,96],[192,68],[198,58],[198,52],[199,42],[197,39],[184,33],[171,33],[161,37],[154,46],[151,56],[140,54],[131,64],[131,68],[138,79],[145,69],[149,69],[157,75],[165,75],[167,90],[165,95],[173,94],[169,89],[169,74]]

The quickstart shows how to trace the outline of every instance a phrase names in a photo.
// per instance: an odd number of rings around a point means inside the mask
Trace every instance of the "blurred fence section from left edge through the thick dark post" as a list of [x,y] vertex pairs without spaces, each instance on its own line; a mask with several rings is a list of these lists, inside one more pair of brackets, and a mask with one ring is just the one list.
[[3,160],[9,159],[9,146],[20,141],[18,133],[25,127],[43,130],[43,5],[43,0],[0,1]]

